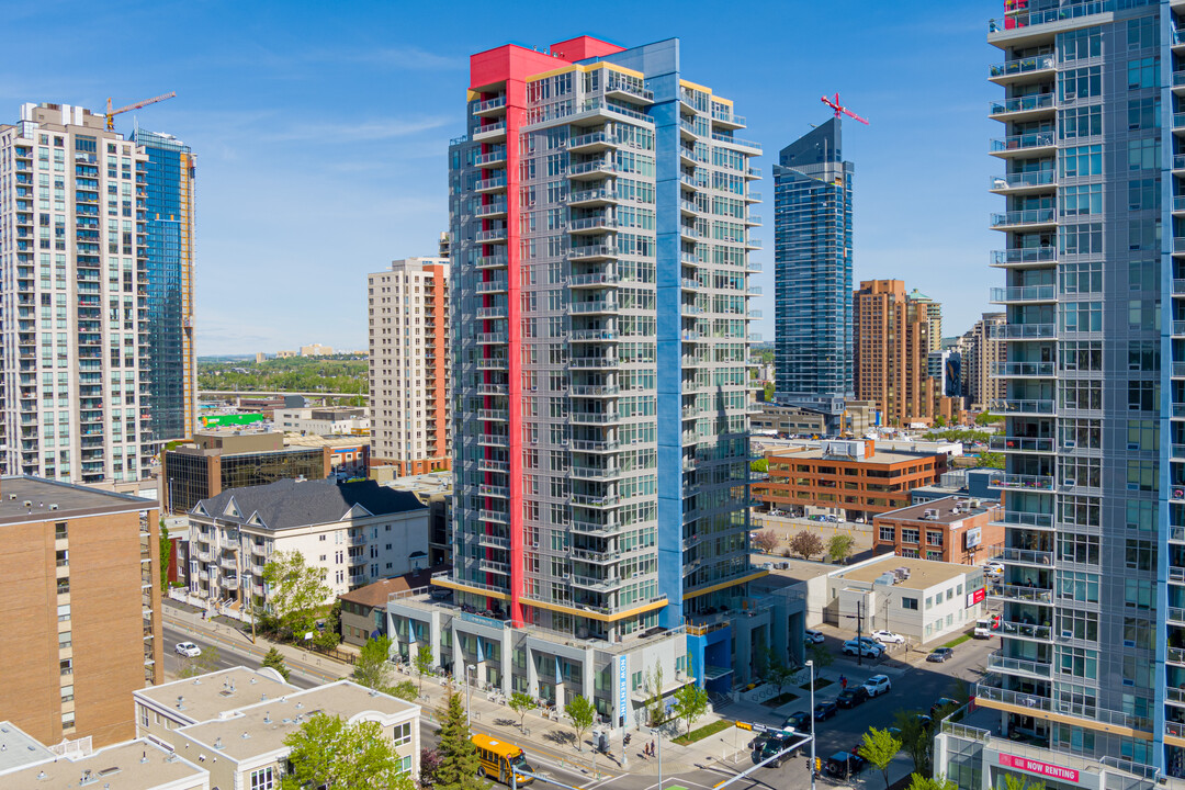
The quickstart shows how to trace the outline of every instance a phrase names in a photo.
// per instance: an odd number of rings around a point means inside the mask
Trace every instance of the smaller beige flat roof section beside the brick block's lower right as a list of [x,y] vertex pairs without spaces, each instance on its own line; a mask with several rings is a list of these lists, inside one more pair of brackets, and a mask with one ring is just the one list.
[[[274,680],[270,673],[232,667],[198,677],[141,688],[135,695],[168,708],[174,715],[185,717],[191,721],[206,721],[223,711],[275,700],[297,691],[300,689],[296,686]],[[179,696],[184,698],[180,705],[177,701]]]

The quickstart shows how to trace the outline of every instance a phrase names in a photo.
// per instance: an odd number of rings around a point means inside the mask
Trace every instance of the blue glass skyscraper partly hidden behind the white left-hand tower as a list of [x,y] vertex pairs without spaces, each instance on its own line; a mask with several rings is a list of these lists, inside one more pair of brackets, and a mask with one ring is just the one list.
[[193,176],[190,147],[167,134],[136,129],[148,154],[143,174],[148,264],[147,378],[150,438],[188,437],[197,420],[193,353]]

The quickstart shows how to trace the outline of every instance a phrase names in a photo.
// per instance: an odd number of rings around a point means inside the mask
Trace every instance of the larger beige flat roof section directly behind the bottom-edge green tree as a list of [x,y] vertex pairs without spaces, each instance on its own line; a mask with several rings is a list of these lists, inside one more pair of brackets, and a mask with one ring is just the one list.
[[[226,706],[224,709],[231,708]],[[339,680],[327,686],[256,702],[250,707],[238,708],[225,718],[191,724],[181,727],[181,732],[210,746],[216,753],[242,762],[283,749],[284,738],[316,713],[348,720],[366,712],[398,715],[418,709],[418,705]]]

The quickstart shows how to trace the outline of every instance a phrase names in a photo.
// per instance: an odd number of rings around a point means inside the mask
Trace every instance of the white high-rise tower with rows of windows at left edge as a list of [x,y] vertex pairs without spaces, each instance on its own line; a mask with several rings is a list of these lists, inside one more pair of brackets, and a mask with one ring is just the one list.
[[149,162],[142,146],[79,107],[24,104],[18,123],[0,126],[0,405],[11,473],[135,481],[159,450]]

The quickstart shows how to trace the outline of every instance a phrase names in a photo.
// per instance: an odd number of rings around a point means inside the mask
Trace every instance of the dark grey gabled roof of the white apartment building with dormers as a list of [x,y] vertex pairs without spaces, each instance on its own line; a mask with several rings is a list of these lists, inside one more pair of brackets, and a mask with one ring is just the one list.
[[[233,506],[237,515],[228,518]],[[292,529],[314,524],[332,524],[347,518],[363,519],[409,510],[427,510],[410,492],[379,486],[373,480],[338,484],[332,480],[278,480],[267,486],[230,488],[201,500],[193,515],[252,524],[268,529]],[[225,515],[224,515],[225,514]]]

